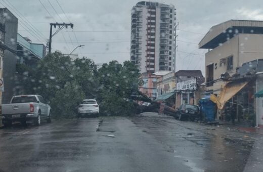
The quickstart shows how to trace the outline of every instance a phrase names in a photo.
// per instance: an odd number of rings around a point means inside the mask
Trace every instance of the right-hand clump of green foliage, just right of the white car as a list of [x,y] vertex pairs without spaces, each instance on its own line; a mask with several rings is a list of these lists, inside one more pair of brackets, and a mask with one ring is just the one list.
[[106,115],[128,115],[134,113],[133,103],[127,98],[138,89],[139,71],[134,64],[117,61],[103,64],[98,71],[101,112]]

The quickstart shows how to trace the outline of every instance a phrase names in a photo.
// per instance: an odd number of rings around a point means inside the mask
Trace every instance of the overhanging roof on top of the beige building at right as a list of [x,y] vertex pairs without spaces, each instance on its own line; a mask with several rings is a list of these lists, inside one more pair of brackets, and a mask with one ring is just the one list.
[[263,21],[229,20],[214,25],[199,42],[199,49],[213,49],[238,33],[263,34]]

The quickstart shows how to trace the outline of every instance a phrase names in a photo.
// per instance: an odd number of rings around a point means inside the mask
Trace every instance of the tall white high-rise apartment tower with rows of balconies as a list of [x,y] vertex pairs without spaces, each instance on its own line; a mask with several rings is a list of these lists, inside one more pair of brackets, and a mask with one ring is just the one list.
[[130,61],[141,73],[175,71],[176,9],[172,5],[139,2],[131,10]]

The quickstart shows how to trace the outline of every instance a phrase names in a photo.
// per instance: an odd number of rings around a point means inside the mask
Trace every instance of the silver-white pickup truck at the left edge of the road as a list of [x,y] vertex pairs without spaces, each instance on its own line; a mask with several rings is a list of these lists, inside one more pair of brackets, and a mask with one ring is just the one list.
[[12,125],[13,121],[20,121],[26,125],[26,121],[33,120],[35,125],[40,125],[41,119],[51,122],[51,107],[39,95],[14,96],[10,104],[0,106],[0,119],[5,126]]

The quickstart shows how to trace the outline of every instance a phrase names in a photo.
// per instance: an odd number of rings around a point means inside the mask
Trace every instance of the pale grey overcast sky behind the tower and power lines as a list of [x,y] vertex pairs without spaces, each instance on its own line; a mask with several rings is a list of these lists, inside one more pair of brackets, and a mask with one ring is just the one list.
[[[22,36],[29,37],[34,43],[47,42],[49,23],[73,23],[74,32],[71,28],[63,29],[53,37],[52,51],[59,50],[68,54],[77,45],[85,45],[75,53],[80,57],[89,57],[96,63],[111,60],[122,63],[129,60],[130,11],[139,1],[40,0],[40,2],[39,0],[0,0],[0,6],[7,7],[17,16],[18,32]],[[177,9],[179,22],[177,70],[200,69],[204,74],[204,57],[207,50],[198,49],[198,43],[213,25],[230,19],[263,20],[263,3],[260,0],[167,0],[159,3],[172,4]]]

